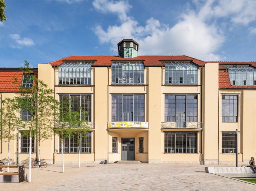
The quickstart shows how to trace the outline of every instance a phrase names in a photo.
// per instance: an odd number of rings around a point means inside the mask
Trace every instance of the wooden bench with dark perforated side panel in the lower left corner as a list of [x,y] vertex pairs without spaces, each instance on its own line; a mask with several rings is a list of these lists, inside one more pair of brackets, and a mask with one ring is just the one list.
[[[3,172],[2,168],[17,168],[18,172]],[[25,181],[24,165],[1,165],[0,166],[0,182],[24,182]]]

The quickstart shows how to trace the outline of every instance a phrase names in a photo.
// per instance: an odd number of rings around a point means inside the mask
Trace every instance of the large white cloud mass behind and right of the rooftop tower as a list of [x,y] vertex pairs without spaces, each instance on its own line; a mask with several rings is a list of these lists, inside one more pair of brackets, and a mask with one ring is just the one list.
[[[111,44],[117,54],[117,43],[122,39],[134,39],[140,44],[139,55],[189,55],[203,60],[225,59],[216,52],[225,42],[225,34],[215,20],[229,18],[233,25],[247,25],[256,19],[256,1],[194,1],[196,9],[188,9],[180,15],[174,26],[149,18],[142,26],[128,16],[131,5],[127,1],[94,0],[93,6],[102,13],[117,14],[120,25],[103,30],[96,26],[94,33],[100,43]],[[118,5],[117,7],[115,5]],[[119,8],[119,9],[118,9]],[[211,22],[211,23],[210,23]]]

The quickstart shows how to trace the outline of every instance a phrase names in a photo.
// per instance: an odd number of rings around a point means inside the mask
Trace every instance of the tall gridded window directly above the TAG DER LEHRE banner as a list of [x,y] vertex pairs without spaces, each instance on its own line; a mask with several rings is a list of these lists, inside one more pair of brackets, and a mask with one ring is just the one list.
[[112,122],[145,121],[144,95],[112,95]]

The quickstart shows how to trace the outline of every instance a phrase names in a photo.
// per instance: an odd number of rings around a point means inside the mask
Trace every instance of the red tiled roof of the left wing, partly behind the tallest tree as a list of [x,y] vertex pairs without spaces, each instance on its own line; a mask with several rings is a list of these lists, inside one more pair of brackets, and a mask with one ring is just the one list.
[[[35,77],[38,77],[38,71],[33,71]],[[19,69],[1,69],[0,71],[0,92],[20,92],[19,84],[13,84],[14,78],[22,80],[23,72]],[[33,82],[35,85],[35,82]]]

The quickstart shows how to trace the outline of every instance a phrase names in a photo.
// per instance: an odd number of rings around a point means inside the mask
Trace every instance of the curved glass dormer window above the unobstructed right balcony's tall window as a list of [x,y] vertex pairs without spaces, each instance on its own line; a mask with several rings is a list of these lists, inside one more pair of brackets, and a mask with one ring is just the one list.
[[166,84],[198,84],[198,66],[192,62],[163,62]]

